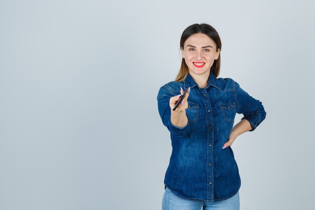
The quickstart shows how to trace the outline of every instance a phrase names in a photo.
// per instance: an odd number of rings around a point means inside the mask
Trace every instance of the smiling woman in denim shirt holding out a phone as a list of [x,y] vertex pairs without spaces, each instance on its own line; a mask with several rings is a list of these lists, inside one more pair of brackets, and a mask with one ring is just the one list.
[[[180,71],[157,95],[173,147],[162,209],[240,209],[241,179],[231,145],[240,134],[255,130],[266,112],[237,82],[217,78],[221,40],[212,26],[186,28],[180,48]],[[233,126],[236,113],[244,117]]]

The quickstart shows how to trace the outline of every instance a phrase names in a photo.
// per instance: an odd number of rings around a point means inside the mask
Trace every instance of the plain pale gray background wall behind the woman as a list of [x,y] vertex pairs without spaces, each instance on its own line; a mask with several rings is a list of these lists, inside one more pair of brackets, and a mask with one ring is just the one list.
[[[156,95],[194,23],[267,117],[233,143],[241,209],[313,209],[311,1],[0,1],[0,209],[161,209]],[[243,115],[238,115],[238,122]]]

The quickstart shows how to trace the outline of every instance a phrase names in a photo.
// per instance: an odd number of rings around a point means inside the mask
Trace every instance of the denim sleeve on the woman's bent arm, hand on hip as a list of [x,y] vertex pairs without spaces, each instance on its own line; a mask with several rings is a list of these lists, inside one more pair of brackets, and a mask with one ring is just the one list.
[[240,85],[234,81],[234,94],[237,101],[237,113],[243,114],[242,119],[251,123],[253,131],[266,118],[266,112],[262,102],[250,96]]

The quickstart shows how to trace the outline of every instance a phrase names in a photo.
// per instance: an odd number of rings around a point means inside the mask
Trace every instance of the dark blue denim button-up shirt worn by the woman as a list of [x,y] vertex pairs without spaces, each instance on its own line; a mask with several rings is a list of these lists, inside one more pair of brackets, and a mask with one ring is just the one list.
[[[188,123],[171,122],[170,97],[190,87]],[[236,113],[250,122],[253,131],[265,119],[262,103],[230,78],[210,72],[208,85],[200,88],[188,75],[183,82],[169,82],[157,95],[159,114],[171,133],[172,154],[164,184],[177,196],[204,201],[224,200],[241,187],[238,165],[228,141]]]

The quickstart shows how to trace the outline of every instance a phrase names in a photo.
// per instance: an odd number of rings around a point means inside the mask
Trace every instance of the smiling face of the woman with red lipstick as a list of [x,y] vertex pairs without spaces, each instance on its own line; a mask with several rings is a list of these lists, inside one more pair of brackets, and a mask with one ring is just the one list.
[[191,75],[209,75],[214,60],[218,59],[220,49],[207,35],[198,33],[191,35],[184,43],[182,56]]

